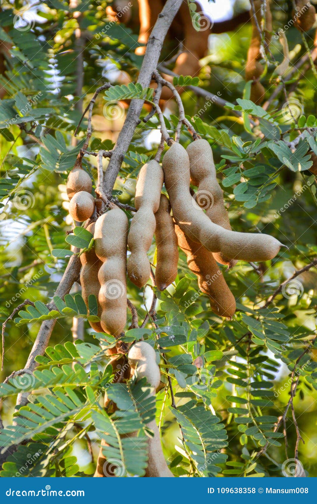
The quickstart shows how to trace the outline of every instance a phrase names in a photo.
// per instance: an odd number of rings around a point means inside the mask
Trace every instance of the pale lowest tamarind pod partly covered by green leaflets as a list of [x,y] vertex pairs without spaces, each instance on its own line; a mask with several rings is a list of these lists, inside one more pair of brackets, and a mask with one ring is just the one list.
[[[160,385],[161,373],[156,364],[155,351],[145,341],[138,341],[129,350],[129,363],[132,370],[137,373],[137,378],[146,377],[147,382],[154,388],[152,394]],[[150,478],[174,478],[163,455],[160,432],[155,420],[147,424],[148,428],[154,432],[154,436],[148,439],[148,462],[145,472]]]

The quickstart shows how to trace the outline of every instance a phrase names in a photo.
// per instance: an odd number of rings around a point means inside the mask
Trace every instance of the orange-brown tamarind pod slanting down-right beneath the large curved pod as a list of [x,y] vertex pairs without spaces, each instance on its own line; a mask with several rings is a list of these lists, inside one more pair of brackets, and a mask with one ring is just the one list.
[[200,290],[210,298],[211,309],[220,317],[231,319],[235,312],[235,299],[213,255],[203,245],[188,238],[179,226],[175,226],[175,232],[190,271],[198,277]]

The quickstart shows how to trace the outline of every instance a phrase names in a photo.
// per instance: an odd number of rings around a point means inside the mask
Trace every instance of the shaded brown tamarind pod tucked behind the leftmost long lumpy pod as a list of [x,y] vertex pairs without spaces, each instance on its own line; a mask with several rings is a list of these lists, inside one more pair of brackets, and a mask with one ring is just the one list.
[[[87,231],[90,231],[92,234],[95,232],[95,222],[92,222],[87,226]],[[80,260],[82,263],[81,269],[81,286],[82,286],[82,296],[88,306],[88,296],[90,294],[94,294],[97,297],[97,305],[98,305],[98,317],[101,317],[101,306],[98,302],[98,296],[100,291],[100,283],[98,280],[98,272],[100,267],[102,266],[102,262],[96,256],[95,249],[92,248],[88,252],[84,252],[80,256]],[[91,327],[97,332],[103,332],[103,328],[101,327],[100,322],[90,322]]]

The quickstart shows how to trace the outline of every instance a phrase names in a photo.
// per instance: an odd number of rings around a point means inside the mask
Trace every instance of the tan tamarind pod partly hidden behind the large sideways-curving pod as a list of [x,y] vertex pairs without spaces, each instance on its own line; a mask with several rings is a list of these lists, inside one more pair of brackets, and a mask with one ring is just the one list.
[[[212,222],[231,231],[209,143],[203,139],[195,140],[189,144],[186,151],[190,162],[191,182],[198,187],[196,202],[206,211]],[[214,253],[213,257],[218,263],[226,264],[229,268],[236,264],[236,261],[227,259],[221,252]]]

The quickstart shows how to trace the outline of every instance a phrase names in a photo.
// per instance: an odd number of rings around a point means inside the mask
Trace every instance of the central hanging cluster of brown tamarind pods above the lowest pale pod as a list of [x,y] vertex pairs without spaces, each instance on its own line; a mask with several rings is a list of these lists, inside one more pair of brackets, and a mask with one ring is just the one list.
[[[162,193],[164,183],[169,198]],[[95,202],[88,192],[91,184],[82,167],[77,165],[70,171],[67,194],[71,198],[69,213],[75,220],[92,216]],[[194,197],[190,184],[198,188]],[[88,296],[94,294],[99,305],[100,323],[91,325],[116,338],[124,332],[127,319],[126,273],[139,288],[146,285],[151,276],[147,252],[154,234],[157,288],[164,290],[175,281],[179,246],[187,256],[189,269],[198,277],[200,290],[209,296],[211,308],[227,318],[233,316],[235,300],[217,262],[232,267],[237,260],[267,261],[282,245],[267,234],[231,230],[211,147],[200,138],[187,149],[173,142],[162,166],[155,159],[142,166],[136,182],[135,209],[129,227],[126,213],[112,204],[96,223],[88,225],[95,248],[80,256],[83,298],[88,304]]]

